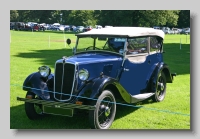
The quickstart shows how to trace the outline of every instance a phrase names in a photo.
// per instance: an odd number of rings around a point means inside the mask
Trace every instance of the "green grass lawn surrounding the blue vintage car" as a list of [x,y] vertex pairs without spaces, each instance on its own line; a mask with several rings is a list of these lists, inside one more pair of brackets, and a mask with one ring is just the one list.
[[[16,97],[25,96],[24,79],[41,65],[48,65],[54,72],[54,64],[62,56],[72,54],[65,40],[72,40],[73,33],[10,31],[10,129],[89,129],[88,116],[72,118],[49,116],[31,121],[24,111],[24,103]],[[181,44],[180,44],[181,43]],[[115,121],[111,129],[190,129],[190,36],[166,35],[164,61],[177,76],[167,84],[163,102],[143,102],[133,107],[117,105]]]

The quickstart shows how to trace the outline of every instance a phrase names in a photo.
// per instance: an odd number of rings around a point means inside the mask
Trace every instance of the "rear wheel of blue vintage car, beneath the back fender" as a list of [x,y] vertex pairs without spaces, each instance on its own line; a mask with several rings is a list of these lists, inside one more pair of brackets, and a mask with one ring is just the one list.
[[153,97],[153,101],[155,102],[161,102],[164,100],[165,95],[166,95],[166,77],[163,72],[160,72],[157,82],[156,82],[156,92]]

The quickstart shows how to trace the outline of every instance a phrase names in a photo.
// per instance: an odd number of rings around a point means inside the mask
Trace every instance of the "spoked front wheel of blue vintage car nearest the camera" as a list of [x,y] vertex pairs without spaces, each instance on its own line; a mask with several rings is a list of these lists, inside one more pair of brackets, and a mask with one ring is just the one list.
[[108,129],[115,118],[116,101],[109,90],[104,90],[96,101],[96,109],[89,112],[92,129]]

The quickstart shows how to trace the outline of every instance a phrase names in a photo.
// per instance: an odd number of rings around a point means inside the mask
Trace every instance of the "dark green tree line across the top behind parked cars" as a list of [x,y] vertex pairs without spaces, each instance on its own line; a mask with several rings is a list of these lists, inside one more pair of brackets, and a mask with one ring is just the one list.
[[190,10],[10,10],[10,22],[184,28]]

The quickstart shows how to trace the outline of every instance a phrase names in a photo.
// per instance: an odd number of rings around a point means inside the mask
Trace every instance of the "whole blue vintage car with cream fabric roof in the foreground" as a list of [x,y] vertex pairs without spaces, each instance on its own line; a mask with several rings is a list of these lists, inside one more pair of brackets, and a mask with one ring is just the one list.
[[[163,61],[164,32],[111,27],[76,34],[73,55],[39,67],[25,79],[25,111],[35,120],[48,114],[73,117],[85,110],[91,128],[108,129],[116,103],[163,101],[175,73]],[[66,41],[69,45],[71,40]],[[71,46],[70,46],[71,47]],[[37,106],[37,107],[35,107]]]

